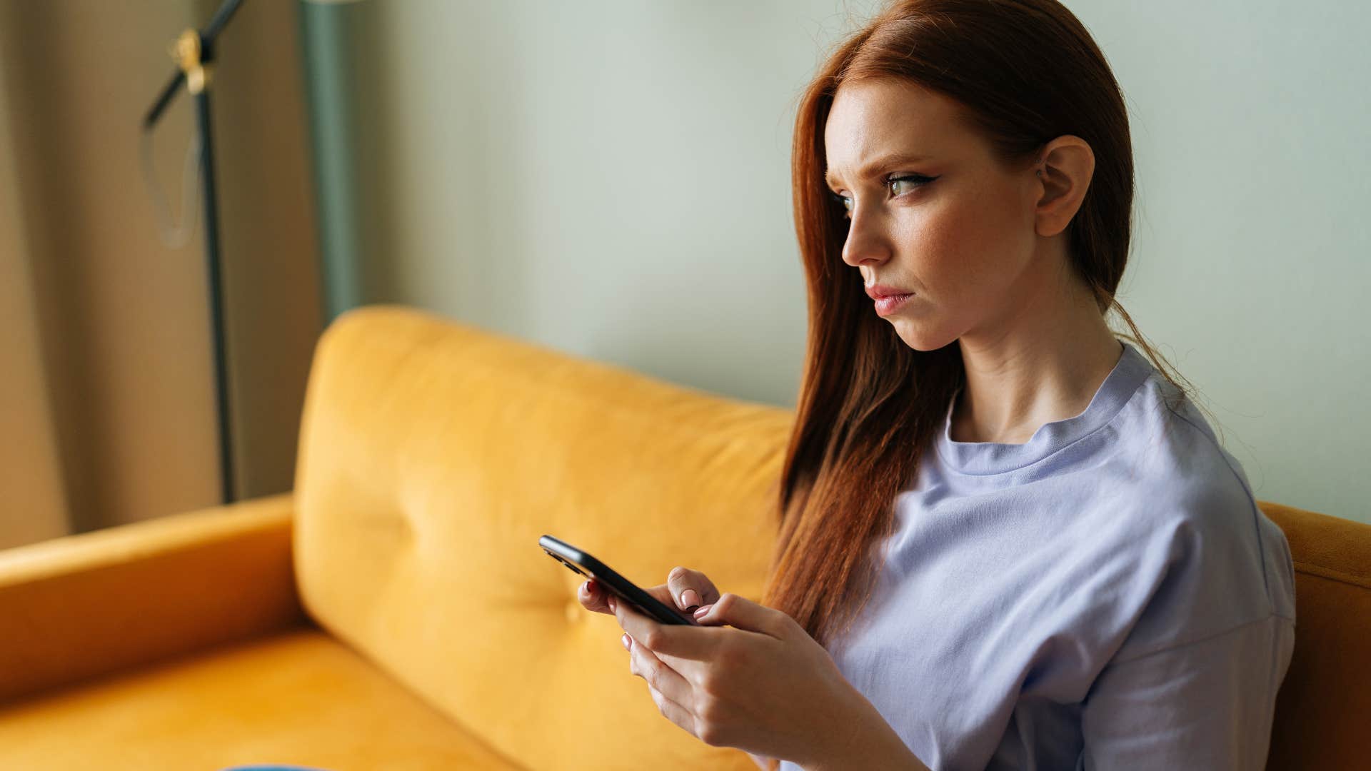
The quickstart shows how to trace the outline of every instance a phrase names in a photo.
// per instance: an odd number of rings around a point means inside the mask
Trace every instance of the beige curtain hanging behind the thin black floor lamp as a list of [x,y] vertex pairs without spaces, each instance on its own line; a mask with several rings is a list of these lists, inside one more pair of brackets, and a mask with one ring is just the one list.
[[[138,152],[215,7],[0,0],[0,547],[219,502],[203,218],[162,241]],[[296,29],[245,3],[213,81],[240,499],[291,488],[322,318]],[[152,145],[173,215],[191,107]]]

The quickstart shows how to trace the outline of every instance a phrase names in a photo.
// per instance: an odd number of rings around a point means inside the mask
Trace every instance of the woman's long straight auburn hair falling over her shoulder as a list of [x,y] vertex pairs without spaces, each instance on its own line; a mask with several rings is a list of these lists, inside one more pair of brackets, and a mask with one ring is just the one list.
[[847,222],[824,184],[824,123],[843,82],[897,78],[957,100],[1006,167],[1028,167],[1075,134],[1095,155],[1068,259],[1101,316],[1116,310],[1176,392],[1115,289],[1128,261],[1132,147],[1123,95],[1086,27],[1054,0],[901,0],[839,43],[801,96],[791,158],[809,336],[779,480],[779,538],[764,604],[825,645],[861,613],[879,575],[894,499],[914,473],[954,392],[961,348],[906,346],[871,313],[840,259]]

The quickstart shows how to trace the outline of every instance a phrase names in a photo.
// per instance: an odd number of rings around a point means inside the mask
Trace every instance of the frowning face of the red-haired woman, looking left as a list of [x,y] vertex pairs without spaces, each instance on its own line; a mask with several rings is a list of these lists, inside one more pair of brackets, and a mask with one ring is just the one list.
[[843,262],[865,285],[913,294],[882,314],[920,351],[1004,333],[1026,289],[1058,269],[1038,254],[1035,169],[1002,169],[958,108],[906,81],[846,82],[824,126],[828,185],[850,220]]

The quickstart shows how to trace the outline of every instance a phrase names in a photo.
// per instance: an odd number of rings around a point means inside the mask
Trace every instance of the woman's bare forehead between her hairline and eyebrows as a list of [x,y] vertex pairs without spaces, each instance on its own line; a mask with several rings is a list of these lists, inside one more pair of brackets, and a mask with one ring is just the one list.
[[946,158],[965,150],[969,132],[949,96],[898,80],[845,82],[824,123],[824,155],[835,176],[890,154]]

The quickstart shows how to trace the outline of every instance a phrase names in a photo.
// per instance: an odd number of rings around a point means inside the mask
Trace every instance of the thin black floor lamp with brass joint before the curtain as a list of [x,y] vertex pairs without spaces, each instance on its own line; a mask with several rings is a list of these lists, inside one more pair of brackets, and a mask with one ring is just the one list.
[[214,329],[214,387],[219,417],[219,482],[222,501],[234,501],[233,440],[229,423],[229,372],[223,344],[223,289],[219,274],[219,217],[214,195],[214,150],[210,133],[210,71],[214,63],[214,41],[239,10],[243,0],[226,0],[203,32],[188,29],[175,41],[177,71],[162,89],[152,108],[143,118],[144,136],[151,134],[158,118],[171,99],[181,92],[181,84],[195,97],[196,132],[200,147],[200,182],[204,200],[204,259],[210,291],[210,324]]

